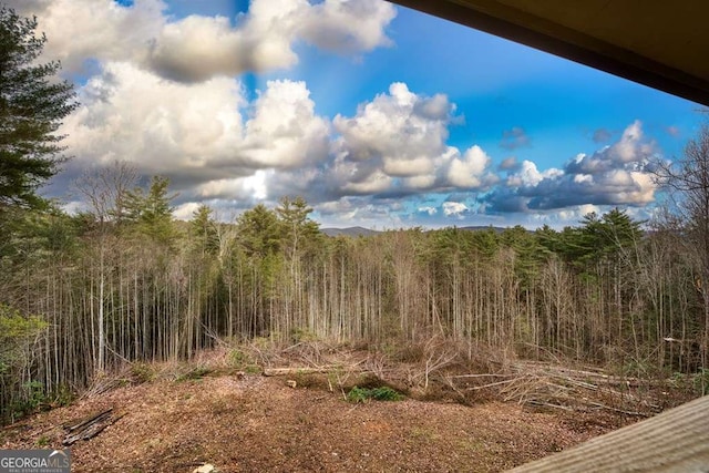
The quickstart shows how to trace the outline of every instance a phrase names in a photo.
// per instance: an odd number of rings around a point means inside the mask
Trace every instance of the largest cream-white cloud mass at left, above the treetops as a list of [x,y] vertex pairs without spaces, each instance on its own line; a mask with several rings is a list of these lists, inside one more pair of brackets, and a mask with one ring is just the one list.
[[302,82],[269,81],[249,103],[233,79],[182,84],[111,62],[80,100],[62,127],[75,156],[70,176],[124,160],[141,174],[169,177],[182,199],[259,199],[270,195],[274,169],[307,169],[328,157],[329,123]]

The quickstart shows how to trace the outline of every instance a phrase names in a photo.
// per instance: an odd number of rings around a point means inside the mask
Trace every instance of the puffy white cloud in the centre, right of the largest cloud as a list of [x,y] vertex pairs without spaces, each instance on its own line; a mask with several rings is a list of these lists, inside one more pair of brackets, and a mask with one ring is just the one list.
[[358,193],[432,188],[456,150],[445,144],[455,106],[442,94],[418,95],[404,83],[361,104],[351,117],[337,115],[333,186]]

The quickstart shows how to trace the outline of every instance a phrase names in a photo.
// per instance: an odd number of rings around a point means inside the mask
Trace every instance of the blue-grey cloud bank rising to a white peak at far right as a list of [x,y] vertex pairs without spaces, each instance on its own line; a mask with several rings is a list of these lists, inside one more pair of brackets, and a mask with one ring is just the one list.
[[592,155],[579,154],[563,169],[540,172],[524,161],[504,187],[481,200],[486,212],[549,210],[583,205],[643,206],[655,198],[648,172],[655,143],[643,135],[639,121],[628,125],[618,142]]

